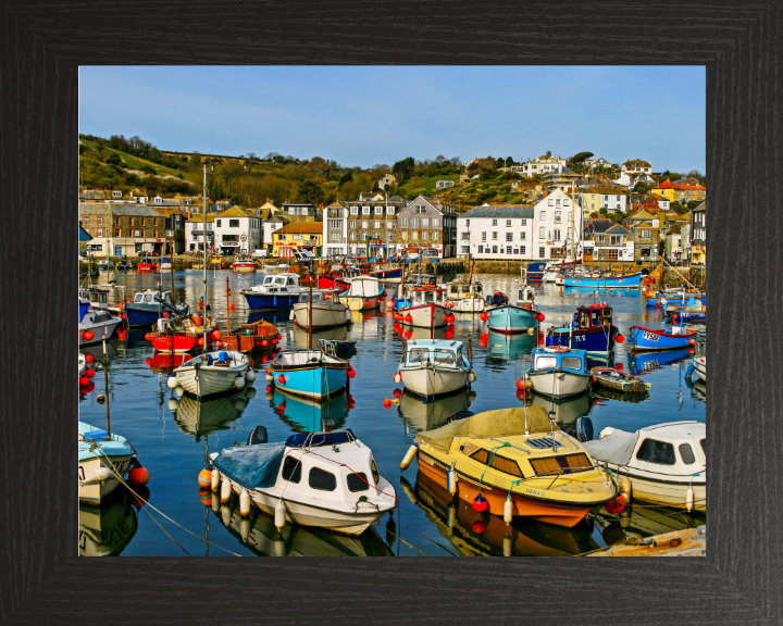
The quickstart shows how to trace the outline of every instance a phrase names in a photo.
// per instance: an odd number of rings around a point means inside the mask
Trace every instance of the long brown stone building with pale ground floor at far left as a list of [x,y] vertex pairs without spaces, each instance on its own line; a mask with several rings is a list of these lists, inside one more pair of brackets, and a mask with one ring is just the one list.
[[87,250],[96,256],[135,256],[160,253],[165,240],[165,216],[145,204],[79,203],[79,224],[91,235]]

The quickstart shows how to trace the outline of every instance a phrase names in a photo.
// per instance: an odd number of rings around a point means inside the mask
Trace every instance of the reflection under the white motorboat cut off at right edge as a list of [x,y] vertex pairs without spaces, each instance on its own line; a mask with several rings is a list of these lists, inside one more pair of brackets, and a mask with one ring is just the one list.
[[633,535],[651,537],[696,528],[707,522],[704,512],[686,513],[683,509],[645,505],[633,500],[620,513],[609,513],[602,506],[597,506],[591,511],[588,517],[594,521],[607,546],[624,541]]

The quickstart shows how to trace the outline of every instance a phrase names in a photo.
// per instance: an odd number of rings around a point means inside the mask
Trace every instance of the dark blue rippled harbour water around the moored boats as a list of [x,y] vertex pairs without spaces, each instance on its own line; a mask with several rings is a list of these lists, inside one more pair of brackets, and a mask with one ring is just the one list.
[[[264,318],[277,325],[284,349],[307,347],[307,331],[289,321],[288,311],[248,311],[239,292],[243,285],[249,286],[258,279],[254,274],[210,272],[208,299],[222,329],[226,328],[226,277],[231,284],[231,303],[235,306],[231,312],[232,325]],[[127,286],[126,298],[134,291],[156,288],[161,278],[162,288],[171,288],[167,274],[161,277],[101,273],[96,281],[105,283],[110,278]],[[484,285],[485,292],[500,290],[515,299],[518,281],[513,276],[480,274],[475,279]],[[201,289],[201,272],[175,273],[175,302],[187,302],[192,308]],[[111,291],[111,303],[117,303],[121,298],[120,289]],[[613,308],[614,324],[622,335],[627,336],[633,325],[661,326],[662,314],[645,308],[639,291],[601,293],[600,300]],[[589,291],[563,292],[554,285],[538,288],[536,304],[546,315],[542,329],[567,323],[576,306],[594,301],[597,297]],[[146,329],[128,331],[125,341],[113,338],[108,345],[111,428],[133,443],[149,471],[149,504],[176,524],[149,505],[137,509],[127,493],[119,492],[100,509],[80,508],[80,553],[123,556],[569,555],[614,543],[631,534],[649,536],[704,524],[703,514],[688,515],[634,503],[620,514],[602,508],[594,510],[570,529],[524,519],[507,526],[500,517],[482,516],[464,502],[455,505],[445,489],[418,476],[415,462],[401,473],[400,461],[420,430],[435,428],[450,414],[464,409],[480,413],[522,405],[525,400],[518,399],[515,381],[530,366],[536,338],[489,333],[487,340],[482,341],[480,336],[486,323],[477,315],[457,314],[453,338],[468,347],[477,375],[471,389],[430,403],[402,395],[399,405],[385,409],[384,399],[395,398],[394,390],[401,388],[395,385],[393,376],[402,353],[403,338],[394,330],[394,325],[391,315],[385,312],[355,313],[352,326],[313,335],[314,346],[321,337],[357,341],[356,353],[348,358],[357,372],[350,381],[349,395],[338,396],[323,405],[283,397],[278,391],[266,393],[264,366],[259,361],[256,367],[260,375],[252,389],[201,402],[186,396],[179,398],[178,405],[172,410],[170,400],[176,396],[166,386],[170,358],[153,354],[152,346],[144,338]],[[420,336],[428,337],[430,331],[414,329],[413,337]],[[436,336],[443,336],[443,331]],[[651,383],[644,400],[611,391],[588,391],[554,404],[537,396],[526,402],[554,410],[561,428],[571,428],[576,417],[588,415],[596,437],[607,426],[633,431],[662,422],[706,420],[705,384],[694,384],[685,377],[692,356],[687,349],[634,356],[626,346],[616,348],[614,362]],[[82,351],[94,354],[96,361],[102,358],[100,346]],[[103,427],[107,410],[97,401],[98,395],[104,393],[102,372],[98,372],[94,381],[96,388],[80,395],[79,418]],[[335,428],[350,427],[372,448],[381,474],[393,484],[399,498],[394,522],[384,517],[358,538],[290,525],[278,535],[274,521],[257,509],[244,519],[236,499],[231,505],[221,506],[211,493],[199,494],[197,476],[209,452],[231,447],[235,441],[246,441],[259,424],[266,427],[270,441],[279,441],[291,433],[321,429],[324,416],[332,420]]]

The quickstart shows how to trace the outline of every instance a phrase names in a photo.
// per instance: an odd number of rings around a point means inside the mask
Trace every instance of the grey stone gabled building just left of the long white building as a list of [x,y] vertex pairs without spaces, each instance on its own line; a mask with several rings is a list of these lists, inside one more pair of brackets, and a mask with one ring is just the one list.
[[423,256],[447,259],[457,246],[457,213],[452,204],[419,196],[399,212],[397,250],[417,248]]

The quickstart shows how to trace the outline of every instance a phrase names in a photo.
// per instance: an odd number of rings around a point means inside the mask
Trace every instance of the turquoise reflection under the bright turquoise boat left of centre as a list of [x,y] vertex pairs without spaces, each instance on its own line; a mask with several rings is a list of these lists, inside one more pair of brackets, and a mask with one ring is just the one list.
[[345,391],[325,401],[315,401],[281,391],[276,387],[266,395],[270,406],[295,433],[319,433],[343,428],[350,397]]

